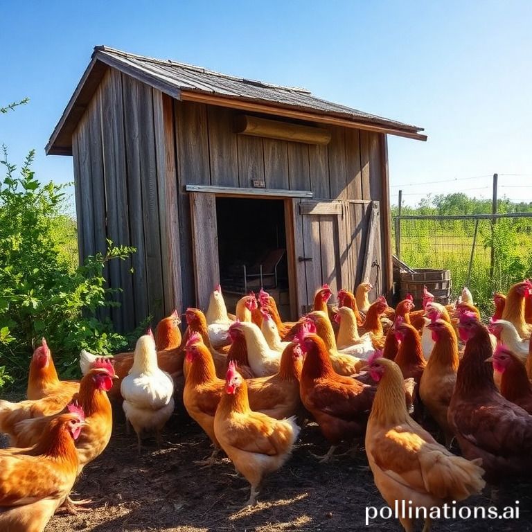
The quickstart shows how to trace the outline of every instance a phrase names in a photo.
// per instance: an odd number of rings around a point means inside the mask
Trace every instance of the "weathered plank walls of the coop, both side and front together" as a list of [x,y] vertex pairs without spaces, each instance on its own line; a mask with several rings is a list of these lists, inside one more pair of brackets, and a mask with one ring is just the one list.
[[[201,200],[190,202],[187,184],[249,188],[260,179],[266,188],[311,190],[312,201],[340,205],[333,212],[326,207],[301,213],[305,200],[285,203],[298,311],[312,302],[321,283],[336,292],[362,280],[371,202],[378,202],[380,224],[366,272],[378,287],[375,294],[387,291],[384,134],[320,125],[330,130],[328,145],[262,139],[235,134],[236,114],[172,100],[114,69],[103,77],[73,134],[73,162],[80,258],[105,252],[106,238],[137,249],[105,272],[109,284],[122,289],[114,296],[121,307],[110,310],[118,330],[132,330],[148,315],[157,321],[173,308],[204,307],[205,294],[218,283],[209,278],[218,264],[195,274],[195,265],[218,263],[218,257],[213,240],[198,245],[201,221],[195,219],[194,229],[193,218]],[[209,224],[212,233],[215,220]],[[213,256],[200,257],[201,249]]]

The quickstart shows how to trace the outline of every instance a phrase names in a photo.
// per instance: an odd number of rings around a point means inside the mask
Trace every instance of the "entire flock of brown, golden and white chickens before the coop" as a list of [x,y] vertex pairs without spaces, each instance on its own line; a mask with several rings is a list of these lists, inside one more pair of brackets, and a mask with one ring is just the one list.
[[[247,504],[289,458],[307,420],[330,443],[321,461],[342,441],[365,438],[389,506],[441,506],[486,481],[529,476],[532,282],[495,294],[488,327],[467,289],[447,306],[425,289],[423,309],[413,310],[411,296],[395,309],[382,296],[370,305],[371,288],[362,283],[356,296],[341,290],[332,309],[323,285],[312,312],[286,323],[263,290],[242,297],[230,316],[218,286],[206,314],[186,310],[183,337],[173,312],[134,353],[82,351],[80,382],[58,379],[43,339],[30,362],[28,399],[0,401],[0,432],[11,445],[0,450],[0,529],[41,532],[60,506],[86,503],[69,494],[109,443],[112,402],[122,403],[141,452],[143,434],[154,432],[160,443],[182,401],[213,443],[202,464],[227,454],[249,481]],[[448,450],[453,438],[462,456]],[[409,518],[400,521],[413,529]]]

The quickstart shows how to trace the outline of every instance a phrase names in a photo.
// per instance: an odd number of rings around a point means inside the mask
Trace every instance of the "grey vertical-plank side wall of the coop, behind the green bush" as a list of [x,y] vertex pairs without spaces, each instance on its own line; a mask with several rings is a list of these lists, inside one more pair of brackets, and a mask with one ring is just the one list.
[[181,308],[173,129],[170,98],[109,69],[73,134],[80,259],[106,239],[136,248],[105,269],[121,331]]

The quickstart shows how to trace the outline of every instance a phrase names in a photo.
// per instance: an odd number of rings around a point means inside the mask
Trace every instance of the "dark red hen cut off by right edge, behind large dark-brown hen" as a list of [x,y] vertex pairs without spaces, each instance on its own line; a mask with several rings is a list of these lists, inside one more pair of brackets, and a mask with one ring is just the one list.
[[526,375],[526,368],[520,357],[499,344],[493,357],[487,360],[493,362],[493,369],[497,373],[501,373],[501,395],[532,414],[532,382]]

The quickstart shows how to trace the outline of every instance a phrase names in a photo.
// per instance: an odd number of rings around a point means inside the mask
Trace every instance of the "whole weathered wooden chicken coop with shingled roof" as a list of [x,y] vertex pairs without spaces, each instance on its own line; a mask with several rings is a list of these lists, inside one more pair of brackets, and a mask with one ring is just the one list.
[[322,283],[389,294],[387,134],[420,131],[305,89],[97,46],[46,153],[73,156],[80,260],[107,238],[136,247],[106,272],[122,289],[115,326],[132,330],[205,308],[220,279],[226,292],[264,283],[292,319]]

